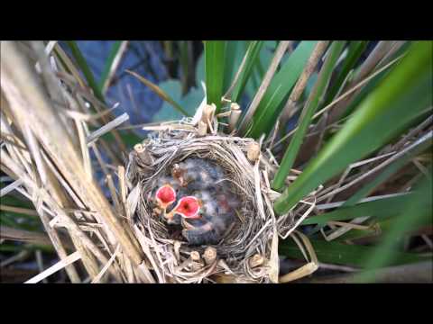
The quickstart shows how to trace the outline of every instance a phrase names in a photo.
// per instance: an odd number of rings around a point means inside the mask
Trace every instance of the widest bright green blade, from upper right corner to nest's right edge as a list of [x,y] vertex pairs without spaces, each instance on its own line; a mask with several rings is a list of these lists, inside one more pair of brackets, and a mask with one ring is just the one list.
[[365,98],[344,127],[281,194],[274,205],[278,214],[290,211],[318,184],[382,147],[431,104],[432,54],[431,41],[415,42],[410,47],[400,64]]

